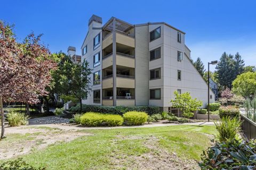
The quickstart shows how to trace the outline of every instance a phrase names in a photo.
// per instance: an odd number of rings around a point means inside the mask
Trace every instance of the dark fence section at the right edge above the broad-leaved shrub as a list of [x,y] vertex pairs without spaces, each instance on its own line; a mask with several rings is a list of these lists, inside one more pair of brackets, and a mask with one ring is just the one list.
[[241,113],[242,130],[247,139],[256,139],[256,123]]

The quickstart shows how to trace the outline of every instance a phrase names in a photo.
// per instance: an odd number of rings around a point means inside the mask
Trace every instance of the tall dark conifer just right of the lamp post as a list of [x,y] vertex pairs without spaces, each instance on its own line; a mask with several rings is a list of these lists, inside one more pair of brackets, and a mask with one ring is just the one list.
[[220,57],[220,62],[216,66],[218,83],[223,89],[232,87],[234,76],[234,56],[226,52]]

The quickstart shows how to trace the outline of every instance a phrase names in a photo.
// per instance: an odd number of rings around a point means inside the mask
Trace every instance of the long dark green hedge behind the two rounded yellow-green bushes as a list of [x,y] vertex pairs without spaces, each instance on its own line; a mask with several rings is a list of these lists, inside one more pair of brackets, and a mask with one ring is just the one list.
[[[70,112],[79,113],[80,105],[73,106],[69,109]],[[137,111],[146,112],[148,115],[161,114],[161,109],[156,106],[96,106],[96,105],[82,105],[82,113],[97,112],[123,115],[126,112]]]

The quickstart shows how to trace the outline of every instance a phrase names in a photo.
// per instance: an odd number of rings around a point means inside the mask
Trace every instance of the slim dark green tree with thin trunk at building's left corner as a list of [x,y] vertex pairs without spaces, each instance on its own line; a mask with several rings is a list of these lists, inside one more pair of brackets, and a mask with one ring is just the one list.
[[69,90],[70,94],[74,95],[80,101],[80,111],[82,112],[82,100],[88,96],[91,91],[92,69],[89,68],[89,63],[84,61],[82,64],[73,64],[69,73]]

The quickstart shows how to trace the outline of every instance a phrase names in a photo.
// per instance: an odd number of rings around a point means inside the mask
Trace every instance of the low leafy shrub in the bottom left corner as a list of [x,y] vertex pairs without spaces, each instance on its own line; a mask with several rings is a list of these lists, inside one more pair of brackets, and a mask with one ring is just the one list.
[[43,170],[46,168],[35,168],[28,165],[22,160],[22,158],[7,160],[6,162],[0,165],[1,170]]

